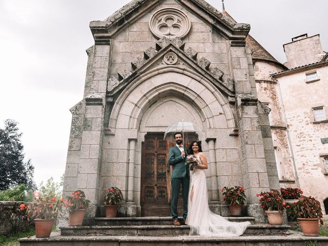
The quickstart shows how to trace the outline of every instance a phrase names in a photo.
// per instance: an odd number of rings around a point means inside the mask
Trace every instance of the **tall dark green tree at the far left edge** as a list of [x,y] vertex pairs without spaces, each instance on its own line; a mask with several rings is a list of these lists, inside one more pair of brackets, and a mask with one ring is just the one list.
[[0,128],[0,190],[20,184],[35,190],[34,167],[30,159],[24,162],[24,147],[20,142],[22,133],[18,132],[17,125],[17,121],[7,119],[4,128]]

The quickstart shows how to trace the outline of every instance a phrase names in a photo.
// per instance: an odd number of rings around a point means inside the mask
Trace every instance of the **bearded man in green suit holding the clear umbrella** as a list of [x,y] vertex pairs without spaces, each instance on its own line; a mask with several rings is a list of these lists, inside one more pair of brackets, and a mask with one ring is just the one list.
[[189,166],[186,165],[188,149],[183,147],[182,133],[177,132],[174,134],[176,145],[169,151],[169,165],[173,166],[171,174],[171,212],[174,226],[180,226],[178,221],[178,198],[179,191],[182,185],[182,197],[183,197],[183,221],[185,224],[188,213],[188,192],[189,192]]

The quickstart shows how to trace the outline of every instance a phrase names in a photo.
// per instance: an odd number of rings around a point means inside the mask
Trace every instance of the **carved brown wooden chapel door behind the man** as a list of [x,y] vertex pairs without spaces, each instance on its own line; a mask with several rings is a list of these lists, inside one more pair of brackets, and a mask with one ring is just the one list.
[[[171,215],[171,172],[169,149],[173,143],[163,140],[164,134],[148,133],[142,142],[141,154],[141,216]],[[181,191],[180,191],[181,194]],[[182,196],[178,210],[182,215]]]

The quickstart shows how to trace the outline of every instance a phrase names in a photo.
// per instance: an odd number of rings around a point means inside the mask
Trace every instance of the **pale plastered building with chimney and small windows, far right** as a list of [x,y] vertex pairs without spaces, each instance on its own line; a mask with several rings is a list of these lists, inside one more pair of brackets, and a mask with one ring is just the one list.
[[[283,106],[280,112],[288,128],[296,170],[296,182],[291,185],[318,199],[328,214],[327,53],[322,50],[319,34],[294,37],[283,47],[288,69],[272,74],[272,79]],[[279,177],[291,177],[279,167],[278,172]]]

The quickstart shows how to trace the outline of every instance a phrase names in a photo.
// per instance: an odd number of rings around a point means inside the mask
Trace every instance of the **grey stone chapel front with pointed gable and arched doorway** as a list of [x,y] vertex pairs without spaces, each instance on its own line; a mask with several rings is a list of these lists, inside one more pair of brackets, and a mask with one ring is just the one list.
[[256,194],[279,189],[279,180],[250,25],[203,0],[139,0],[90,28],[95,44],[83,100],[71,109],[64,195],[83,190],[89,219],[103,212],[110,187],[124,194],[120,216],[170,216],[172,145],[163,133],[185,119],[204,132],[211,209],[227,215],[220,190],[240,185],[247,214],[264,221]]

